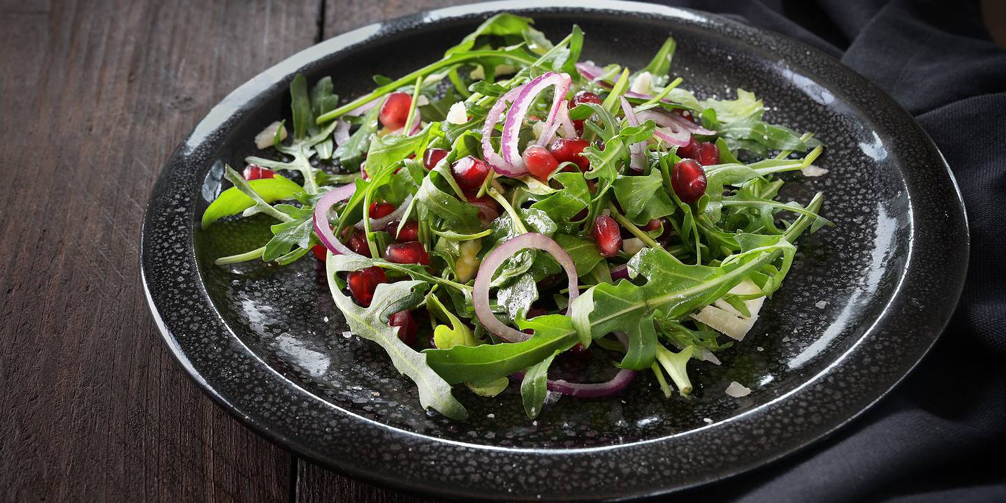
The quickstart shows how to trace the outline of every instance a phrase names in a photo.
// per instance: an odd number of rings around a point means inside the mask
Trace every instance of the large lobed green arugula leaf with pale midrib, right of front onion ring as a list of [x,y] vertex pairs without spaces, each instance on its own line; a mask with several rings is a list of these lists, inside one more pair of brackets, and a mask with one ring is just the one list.
[[780,254],[788,258],[786,264],[792,261],[796,248],[785,238],[758,237],[763,239],[757,245],[718,267],[686,266],[662,250],[643,248],[629,261],[629,271],[631,276],[642,275],[646,283],[636,286],[622,281],[592,287],[572,303],[573,326],[581,338],[594,339],[626,330],[638,356],[624,361],[623,367],[645,369],[653,364],[653,352],[646,344],[651,341],[654,313],[681,318],[713,303]]

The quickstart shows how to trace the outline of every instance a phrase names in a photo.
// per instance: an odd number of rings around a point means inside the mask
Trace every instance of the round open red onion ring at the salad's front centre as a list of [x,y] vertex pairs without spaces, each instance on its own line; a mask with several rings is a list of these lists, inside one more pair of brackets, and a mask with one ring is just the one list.
[[569,278],[569,307],[566,308],[566,316],[572,309],[572,301],[579,296],[578,282],[576,279],[576,265],[569,258],[559,243],[544,234],[528,232],[520,234],[492,250],[479,266],[479,274],[475,277],[475,290],[472,292],[472,301],[475,304],[475,315],[486,327],[486,330],[496,334],[508,342],[520,342],[530,339],[530,334],[525,334],[507,324],[499,321],[492,310],[489,309],[489,285],[492,283],[496,270],[506,262],[507,259],[517,255],[522,249],[540,249],[546,252],[555,259],[555,262],[562,266],[566,276]]

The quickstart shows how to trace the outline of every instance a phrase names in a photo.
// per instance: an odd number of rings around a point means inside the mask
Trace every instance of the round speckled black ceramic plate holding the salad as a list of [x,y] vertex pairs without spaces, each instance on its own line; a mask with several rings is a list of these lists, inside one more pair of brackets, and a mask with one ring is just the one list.
[[[707,483],[806,446],[879,399],[949,319],[968,252],[964,208],[940,152],[890,98],[799,42],[688,10],[619,2],[497,2],[365,26],[270,68],[215,107],[164,167],[143,227],[151,310],[205,391],[273,441],[338,471],[414,491],[499,499],[618,499]],[[827,145],[829,172],[788,184],[827,193],[837,224],[801,242],[795,271],[723,364],[696,363],[694,399],[664,399],[652,378],[622,395],[564,397],[536,422],[519,394],[456,391],[465,422],[428,414],[376,345],[346,326],[313,259],[218,268],[257,247],[259,222],[199,229],[224,163],[288,113],[297,72],[333,75],[343,97],[374,73],[439,57],[489,14],[533,16],[553,39],[578,23],[584,55],[645,64],[669,32],[675,72],[703,95],[758,93],[774,122]],[[723,393],[736,380],[742,398]]]

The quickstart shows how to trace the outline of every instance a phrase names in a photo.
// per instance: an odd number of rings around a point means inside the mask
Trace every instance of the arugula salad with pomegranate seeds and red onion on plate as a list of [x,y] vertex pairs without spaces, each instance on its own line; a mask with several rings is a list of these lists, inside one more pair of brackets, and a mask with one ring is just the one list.
[[[290,121],[256,138],[243,173],[226,167],[233,186],[202,217],[211,231],[263,213],[272,238],[216,264],[322,261],[351,333],[452,418],[467,416],[455,393],[511,386],[529,417],[634,378],[689,397],[689,366],[720,364],[797,239],[830,223],[821,193],[779,197],[825,171],[820,142],[766,122],[752,93],[686,91],[673,38],[645,67],[602,66],[580,60],[577,26],[553,43],[532,23],[494,16],[345,103],[330,77],[297,75]],[[609,380],[548,378],[594,352]]]

